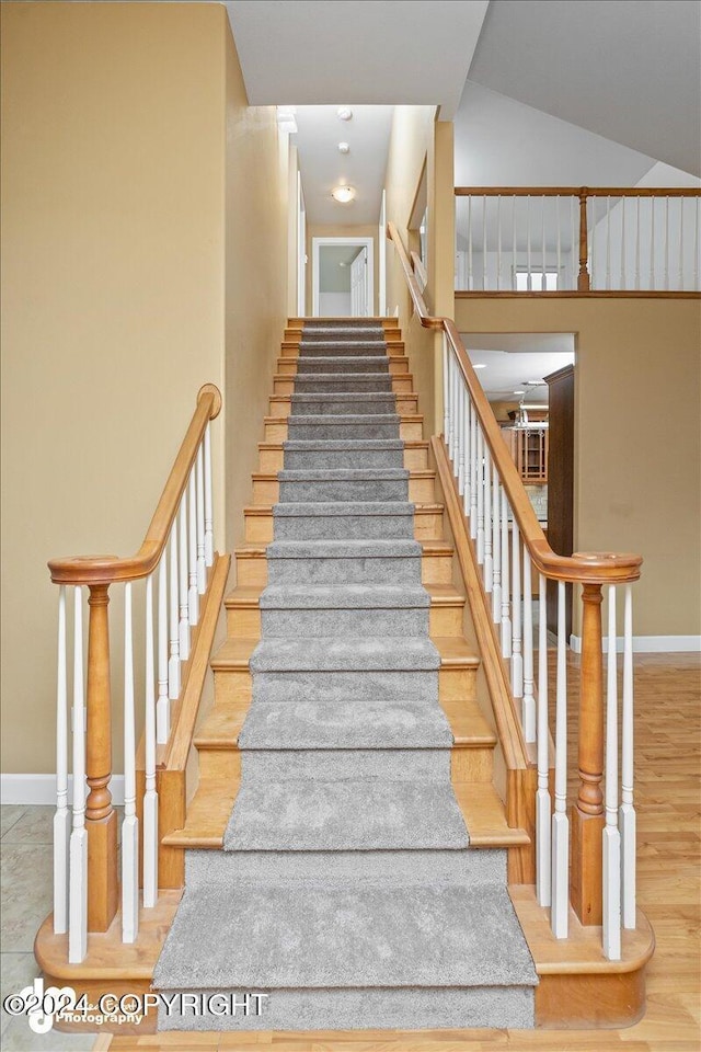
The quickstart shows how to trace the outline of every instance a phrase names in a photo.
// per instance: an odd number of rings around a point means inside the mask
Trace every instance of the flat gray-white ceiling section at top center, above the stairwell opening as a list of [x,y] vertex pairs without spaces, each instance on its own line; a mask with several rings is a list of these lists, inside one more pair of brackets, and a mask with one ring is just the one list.
[[226,7],[251,105],[440,105],[452,119],[487,0]]

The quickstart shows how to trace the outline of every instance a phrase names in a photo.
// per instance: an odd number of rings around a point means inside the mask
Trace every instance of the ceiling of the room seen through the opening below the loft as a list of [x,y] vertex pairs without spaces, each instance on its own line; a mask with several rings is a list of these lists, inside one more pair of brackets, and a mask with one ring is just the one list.
[[492,402],[547,403],[548,385],[528,381],[540,380],[574,363],[571,332],[463,332],[461,336],[472,364],[485,366],[478,369],[478,378]]

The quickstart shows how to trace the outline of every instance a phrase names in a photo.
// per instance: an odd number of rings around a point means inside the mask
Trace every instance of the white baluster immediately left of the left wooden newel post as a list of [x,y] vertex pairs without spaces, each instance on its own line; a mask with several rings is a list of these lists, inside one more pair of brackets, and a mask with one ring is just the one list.
[[70,834],[68,962],[88,952],[88,830],[85,828],[85,712],[83,690],[83,590],[76,588],[73,627],[73,827]]

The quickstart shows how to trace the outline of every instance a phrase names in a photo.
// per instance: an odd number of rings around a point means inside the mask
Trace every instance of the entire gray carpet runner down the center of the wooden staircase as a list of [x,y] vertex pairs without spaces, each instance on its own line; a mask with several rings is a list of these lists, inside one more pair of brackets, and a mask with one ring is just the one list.
[[470,849],[450,784],[399,425],[382,328],[307,322],[241,786],[153,977],[267,997],[160,1029],[533,1026],[506,853]]

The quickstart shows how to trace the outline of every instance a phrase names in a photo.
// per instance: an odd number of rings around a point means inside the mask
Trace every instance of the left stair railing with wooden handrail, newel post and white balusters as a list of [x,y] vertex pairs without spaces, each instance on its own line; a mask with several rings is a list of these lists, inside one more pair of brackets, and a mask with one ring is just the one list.
[[[143,906],[158,900],[157,751],[170,734],[171,706],[181,694],[182,666],[199,619],[214,564],[210,421],[221,395],[206,384],[136,554],[53,559],[58,596],[56,722],[57,808],[54,819],[54,931],[68,933],[68,960],[80,963],[89,931],[106,931],[119,905],[117,814],[113,805],[108,604],[124,584],[124,821],[122,823],[122,939],[139,926],[139,822],[135,698],[134,585],[145,581],[143,720],[146,791],[142,801]],[[68,590],[72,591],[69,599]],[[87,662],[83,608],[88,593]],[[70,631],[72,609],[72,632]],[[72,638],[69,638],[72,637]],[[72,809],[68,799],[69,645],[72,644]],[[87,677],[85,677],[87,664]],[[139,672],[140,672],[139,667]],[[87,681],[87,682],[85,682]]]

